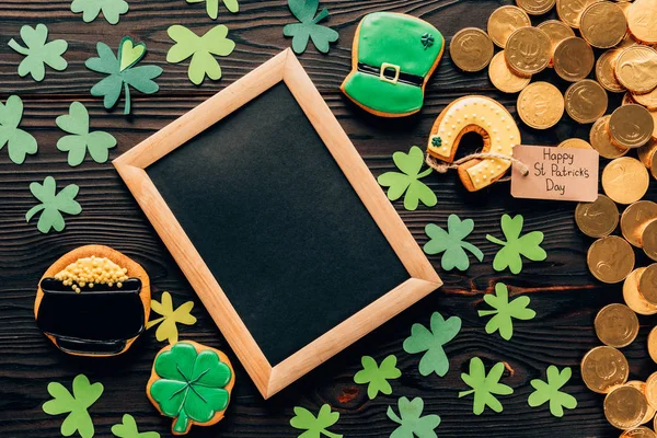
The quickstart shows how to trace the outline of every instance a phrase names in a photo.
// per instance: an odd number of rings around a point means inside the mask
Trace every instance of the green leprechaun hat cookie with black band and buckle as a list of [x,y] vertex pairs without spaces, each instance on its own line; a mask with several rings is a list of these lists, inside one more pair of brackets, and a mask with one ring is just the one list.
[[341,90],[378,116],[417,113],[443,49],[442,34],[426,21],[392,12],[367,14],[356,30],[351,72]]

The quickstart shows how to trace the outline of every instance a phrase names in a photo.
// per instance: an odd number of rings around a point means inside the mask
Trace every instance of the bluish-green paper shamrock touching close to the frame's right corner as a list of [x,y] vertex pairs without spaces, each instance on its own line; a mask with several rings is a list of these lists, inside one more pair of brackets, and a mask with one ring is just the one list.
[[424,252],[434,255],[445,252],[440,260],[440,265],[445,270],[451,270],[454,267],[459,270],[466,270],[470,267],[470,260],[465,250],[470,251],[480,262],[484,260],[484,253],[472,243],[463,241],[474,230],[472,219],[461,220],[457,215],[449,215],[447,219],[447,231],[435,223],[425,227],[425,232],[430,240],[424,245]]

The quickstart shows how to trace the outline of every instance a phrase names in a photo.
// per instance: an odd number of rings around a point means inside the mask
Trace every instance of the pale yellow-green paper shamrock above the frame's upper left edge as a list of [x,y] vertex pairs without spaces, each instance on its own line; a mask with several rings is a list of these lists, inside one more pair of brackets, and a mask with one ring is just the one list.
[[192,57],[187,76],[195,85],[200,85],[204,78],[212,80],[221,78],[221,67],[212,55],[228,56],[235,48],[235,43],[228,39],[228,27],[223,24],[212,27],[204,36],[198,36],[185,26],[173,25],[166,31],[176,44],[169,49],[166,62],[177,64]]

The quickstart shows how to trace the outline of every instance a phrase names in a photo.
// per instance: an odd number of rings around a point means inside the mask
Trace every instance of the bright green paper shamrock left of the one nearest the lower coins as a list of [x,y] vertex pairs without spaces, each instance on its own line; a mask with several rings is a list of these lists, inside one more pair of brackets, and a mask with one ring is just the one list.
[[486,406],[499,413],[503,411],[502,403],[495,397],[498,395],[510,395],[514,389],[504,383],[499,383],[502,373],[504,372],[504,364],[497,362],[486,376],[484,362],[479,357],[473,357],[470,360],[470,373],[461,373],[461,379],[472,390],[459,392],[459,399],[474,393],[474,415],[481,415]]

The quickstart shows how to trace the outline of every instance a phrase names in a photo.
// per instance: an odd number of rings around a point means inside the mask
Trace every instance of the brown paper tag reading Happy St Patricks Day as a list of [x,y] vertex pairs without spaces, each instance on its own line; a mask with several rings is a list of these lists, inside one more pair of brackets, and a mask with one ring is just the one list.
[[598,198],[598,151],[549,146],[514,147],[517,163],[511,171],[511,196],[528,199],[593,201]]

